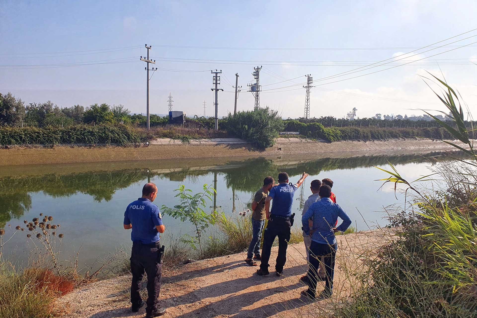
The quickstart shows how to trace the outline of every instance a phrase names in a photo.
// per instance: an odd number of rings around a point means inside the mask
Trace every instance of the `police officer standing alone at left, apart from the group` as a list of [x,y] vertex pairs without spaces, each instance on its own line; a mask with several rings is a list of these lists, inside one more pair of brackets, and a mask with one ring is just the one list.
[[139,291],[144,273],[147,274],[146,318],[162,316],[166,309],[159,308],[161,291],[162,253],[164,246],[159,246],[159,233],[166,227],[162,223],[161,212],[152,202],[156,199],[157,187],[148,183],[143,187],[143,196],[130,203],[124,212],[124,229],[132,229],[131,240],[131,311],[138,312],[144,306]]

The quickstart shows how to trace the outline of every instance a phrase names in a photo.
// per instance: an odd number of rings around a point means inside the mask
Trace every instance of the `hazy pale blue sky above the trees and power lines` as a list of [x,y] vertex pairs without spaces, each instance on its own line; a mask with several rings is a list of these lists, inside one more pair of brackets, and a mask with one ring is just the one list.
[[[470,37],[451,46],[400,56],[476,29],[475,12],[475,0],[459,0],[453,5],[440,0],[0,0],[0,92],[10,91],[26,103],[121,103],[134,113],[144,113],[146,74],[139,56],[145,55],[147,43],[153,45],[151,56],[157,67],[205,71],[155,72],[150,81],[151,113],[167,112],[171,92],[174,110],[201,115],[205,100],[207,116],[213,115],[211,69],[223,72],[221,87],[226,92],[219,92],[219,116],[233,111],[234,89],[230,84],[235,85],[236,72],[243,86],[238,109],[253,109],[253,97],[246,91],[256,65],[263,65],[260,105],[280,110],[283,117],[303,115],[305,90],[296,84],[306,82],[304,75],[310,73],[318,88],[311,90],[311,116],[342,117],[353,107],[360,117],[442,110],[418,76],[425,71],[441,76],[439,67],[471,112],[477,113],[477,65],[469,63],[477,62],[477,44],[456,49],[476,42],[477,31],[436,45]],[[384,70],[452,49],[456,50]],[[413,54],[418,55],[410,56]],[[375,66],[366,67],[368,64],[390,62],[393,57],[406,59],[365,70]],[[92,65],[66,64],[84,62]],[[326,80],[356,68],[361,69]],[[384,71],[348,79],[380,70]],[[283,78],[295,79],[281,82]],[[269,85],[273,83],[277,84]]]

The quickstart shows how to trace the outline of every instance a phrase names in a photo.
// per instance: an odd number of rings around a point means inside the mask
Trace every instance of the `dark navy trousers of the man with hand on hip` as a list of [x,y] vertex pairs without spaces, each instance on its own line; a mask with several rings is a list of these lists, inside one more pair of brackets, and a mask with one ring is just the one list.
[[[333,276],[334,276],[334,260],[336,257],[336,250],[338,244],[333,245],[320,244],[315,241],[311,241],[310,246],[310,270],[308,276],[310,277],[310,289],[315,292],[317,284],[318,268],[320,267],[320,261],[323,260],[325,267],[325,290],[328,295],[333,293]],[[322,257],[323,256],[323,257]]]

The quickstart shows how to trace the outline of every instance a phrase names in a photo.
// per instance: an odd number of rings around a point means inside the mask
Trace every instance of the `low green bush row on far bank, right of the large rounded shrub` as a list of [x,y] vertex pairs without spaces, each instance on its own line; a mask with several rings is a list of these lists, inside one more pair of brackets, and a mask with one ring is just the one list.
[[432,139],[454,139],[442,127],[432,128],[375,128],[375,127],[324,127],[320,123],[301,123],[297,120],[285,121],[285,131],[299,132],[309,138],[320,138],[328,142],[340,140],[387,140],[399,138],[425,137]]

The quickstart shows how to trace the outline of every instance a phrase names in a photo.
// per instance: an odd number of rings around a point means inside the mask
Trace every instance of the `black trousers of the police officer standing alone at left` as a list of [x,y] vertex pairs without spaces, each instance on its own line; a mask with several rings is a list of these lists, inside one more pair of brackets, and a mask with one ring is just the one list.
[[131,303],[133,307],[139,306],[141,299],[141,282],[144,273],[147,274],[147,301],[146,313],[151,314],[158,309],[159,292],[161,291],[162,260],[159,246],[145,245],[140,242],[133,242],[131,251],[131,273],[133,281],[131,283]]

